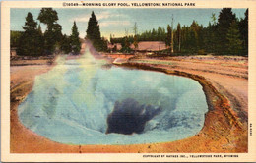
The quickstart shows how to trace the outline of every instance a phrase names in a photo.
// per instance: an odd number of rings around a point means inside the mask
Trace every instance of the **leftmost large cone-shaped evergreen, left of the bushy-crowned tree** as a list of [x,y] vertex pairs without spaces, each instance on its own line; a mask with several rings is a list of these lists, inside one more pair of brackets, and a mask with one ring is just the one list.
[[41,55],[40,43],[38,41],[40,35],[37,28],[37,23],[33,20],[32,13],[28,13],[26,17],[25,30],[21,36],[18,55],[38,56]]

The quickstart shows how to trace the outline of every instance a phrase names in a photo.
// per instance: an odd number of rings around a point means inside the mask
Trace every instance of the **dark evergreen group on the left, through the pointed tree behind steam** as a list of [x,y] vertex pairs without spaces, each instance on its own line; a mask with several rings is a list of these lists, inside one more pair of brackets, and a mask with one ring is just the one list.
[[[42,56],[53,53],[72,52],[79,54],[81,49],[81,39],[79,38],[76,22],[71,28],[71,35],[62,34],[62,27],[58,24],[58,14],[52,8],[42,8],[37,20],[46,25],[46,30],[42,32],[38,24],[28,13],[23,26],[24,31],[11,31],[11,47],[17,48],[17,54],[22,56]],[[99,26],[97,25],[94,12],[89,20],[87,36],[93,40],[97,50],[107,48],[106,40],[100,37]],[[103,46],[104,45],[104,46]]]

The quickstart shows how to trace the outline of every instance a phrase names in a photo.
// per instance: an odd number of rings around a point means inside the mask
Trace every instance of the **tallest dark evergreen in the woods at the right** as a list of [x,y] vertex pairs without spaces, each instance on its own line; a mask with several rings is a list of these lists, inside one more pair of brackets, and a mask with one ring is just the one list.
[[235,14],[232,13],[231,8],[224,8],[220,12],[217,30],[218,30],[218,51],[219,54],[227,54],[228,40],[226,37],[227,31],[233,21],[235,21]]

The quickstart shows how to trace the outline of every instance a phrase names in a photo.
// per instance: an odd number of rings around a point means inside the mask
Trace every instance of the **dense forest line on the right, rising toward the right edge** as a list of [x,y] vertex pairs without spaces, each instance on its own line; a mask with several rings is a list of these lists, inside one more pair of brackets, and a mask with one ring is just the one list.
[[[110,42],[121,43],[123,48],[129,48],[137,41],[164,41],[170,47],[173,43],[175,53],[185,54],[206,54],[218,55],[248,55],[248,9],[244,18],[238,19],[231,8],[221,10],[218,19],[212,15],[212,20],[207,27],[198,25],[193,21],[190,26],[177,27],[167,25],[167,28],[158,27],[146,30],[141,34],[129,35],[120,38],[113,38],[110,35]],[[171,42],[173,34],[173,42]]]

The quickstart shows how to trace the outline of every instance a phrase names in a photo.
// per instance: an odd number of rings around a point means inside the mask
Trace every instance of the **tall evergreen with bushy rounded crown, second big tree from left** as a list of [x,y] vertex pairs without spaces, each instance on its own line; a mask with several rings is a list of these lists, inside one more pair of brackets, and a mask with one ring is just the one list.
[[44,33],[44,47],[46,52],[51,54],[54,52],[57,42],[59,42],[62,38],[62,27],[57,24],[58,14],[52,8],[42,8],[37,19],[47,26]]

